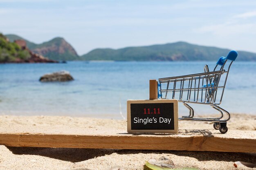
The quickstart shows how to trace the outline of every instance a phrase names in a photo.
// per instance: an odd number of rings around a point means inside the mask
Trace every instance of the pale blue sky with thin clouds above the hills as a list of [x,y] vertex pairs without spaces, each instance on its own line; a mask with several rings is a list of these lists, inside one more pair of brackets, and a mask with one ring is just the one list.
[[0,0],[0,32],[96,48],[177,41],[256,53],[253,0]]

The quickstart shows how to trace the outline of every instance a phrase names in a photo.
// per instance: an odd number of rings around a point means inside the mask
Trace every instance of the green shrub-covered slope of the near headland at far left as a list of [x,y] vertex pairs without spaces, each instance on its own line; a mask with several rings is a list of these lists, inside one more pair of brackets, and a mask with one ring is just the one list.
[[14,42],[9,42],[7,38],[0,33],[0,63],[27,60],[30,57],[29,51],[22,50],[20,46]]

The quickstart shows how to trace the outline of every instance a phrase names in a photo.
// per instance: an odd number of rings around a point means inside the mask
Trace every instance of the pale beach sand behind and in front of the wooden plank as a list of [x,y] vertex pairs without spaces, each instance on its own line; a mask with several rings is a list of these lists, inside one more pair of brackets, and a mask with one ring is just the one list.
[[[125,120],[63,116],[0,115],[0,126],[22,127],[99,127],[126,130]],[[231,114],[229,130],[253,130],[256,136],[256,115]],[[212,123],[179,121],[180,129],[213,129]],[[243,131],[241,131],[243,133]],[[218,144],[216,144],[218,145]],[[198,152],[165,150],[114,150],[79,148],[26,148],[0,145],[0,170],[143,170],[150,158],[168,157],[176,168],[206,170],[254,169],[234,167],[235,161],[256,163],[256,153]]]

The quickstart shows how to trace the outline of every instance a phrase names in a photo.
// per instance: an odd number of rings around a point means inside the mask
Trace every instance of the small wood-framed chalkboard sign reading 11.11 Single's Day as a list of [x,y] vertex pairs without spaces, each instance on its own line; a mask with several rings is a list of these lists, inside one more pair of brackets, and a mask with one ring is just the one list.
[[178,133],[178,101],[128,100],[127,131]]

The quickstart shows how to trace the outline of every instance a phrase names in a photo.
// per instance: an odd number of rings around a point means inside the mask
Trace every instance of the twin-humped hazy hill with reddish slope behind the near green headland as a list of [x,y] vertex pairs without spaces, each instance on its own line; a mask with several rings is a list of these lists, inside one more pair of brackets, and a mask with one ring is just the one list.
[[5,35],[10,42],[14,40],[25,40],[27,42],[27,47],[34,53],[43,55],[52,60],[80,60],[79,55],[77,55],[75,49],[64,40],[64,38],[54,38],[42,44],[35,44],[30,42],[18,35],[8,34]]

